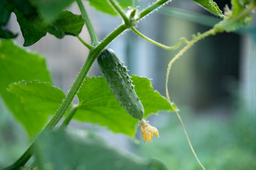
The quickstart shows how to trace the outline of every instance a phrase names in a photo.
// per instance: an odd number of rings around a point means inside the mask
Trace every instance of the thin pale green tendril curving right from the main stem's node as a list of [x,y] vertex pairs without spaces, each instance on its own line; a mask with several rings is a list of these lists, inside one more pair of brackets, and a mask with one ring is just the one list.
[[166,46],[166,45],[163,45],[163,44],[161,44],[159,42],[156,42],[155,40],[152,40],[152,39],[146,37],[146,35],[143,35],[142,33],[140,33],[139,30],[137,30],[136,28],[131,28],[131,30],[133,30],[134,33],[137,33],[137,35],[139,35],[140,37],[144,38],[145,40],[153,43],[154,45],[162,47],[162,48],[164,48],[166,50],[174,50],[174,49],[178,48],[181,45],[182,42],[185,42],[186,44],[189,43],[189,41],[186,40],[186,38],[181,38],[176,45],[174,45],[174,46]]

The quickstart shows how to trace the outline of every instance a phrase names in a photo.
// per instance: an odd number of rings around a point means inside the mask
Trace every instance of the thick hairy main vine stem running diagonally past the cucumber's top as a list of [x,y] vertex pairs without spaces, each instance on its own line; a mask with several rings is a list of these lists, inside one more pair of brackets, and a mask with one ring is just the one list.
[[[78,1],[78,3],[79,2],[81,3],[80,0],[77,0],[77,1]],[[151,13],[151,11],[154,11],[156,8],[161,7],[161,4],[164,4],[166,1],[169,1],[169,0],[156,1],[157,5],[152,4],[148,8],[144,9],[144,11],[142,11],[143,15],[141,15],[139,19],[141,19],[141,18],[143,18],[143,16],[146,16],[147,14]],[[80,5],[82,5],[82,3]],[[110,44],[110,42],[112,42],[112,40],[117,38],[117,36],[120,35],[121,33],[123,33],[124,30],[126,30],[126,29],[127,28],[124,26],[124,24],[122,24],[121,26],[116,28],[112,33],[110,33],[110,35],[108,35],[107,38],[105,38],[102,42],[100,42],[99,45],[97,45],[94,49],[90,50],[89,55],[87,57],[87,60],[85,61],[85,64],[83,65],[80,73],[78,74],[77,79],[75,79],[75,82],[74,82],[73,86],[71,86],[71,89],[68,92],[68,95],[65,97],[63,103],[61,103],[61,105],[60,105],[60,108],[55,113],[53,118],[50,120],[48,125],[46,125],[46,128],[43,129],[43,131],[53,130],[53,128],[55,127],[55,125],[57,125],[60,118],[62,118],[64,113],[66,111],[68,111],[70,103],[73,101],[73,98],[75,97],[75,94],[77,93],[78,89],[80,88],[80,85],[82,84],[82,81],[85,79],[85,76],[87,75],[87,72],[90,70],[90,67],[92,66],[92,63],[95,61],[97,56],[100,54],[100,52],[105,47],[107,47],[107,45]],[[26,152],[24,152],[21,155],[21,157],[19,157],[16,160],[16,162],[14,162],[14,164],[11,164],[10,166],[7,166],[7,167],[5,167],[4,169],[1,169],[1,170],[16,170],[16,169],[19,169],[21,166],[26,164],[26,162],[28,162],[28,160],[31,158],[32,154],[33,154],[33,143],[28,147]]]

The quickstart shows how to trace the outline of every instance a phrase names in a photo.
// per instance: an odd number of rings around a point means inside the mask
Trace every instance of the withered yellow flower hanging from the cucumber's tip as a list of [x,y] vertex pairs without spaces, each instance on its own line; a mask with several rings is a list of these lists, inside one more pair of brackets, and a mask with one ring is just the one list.
[[146,140],[151,142],[153,135],[156,135],[156,137],[159,137],[159,132],[156,129],[156,127],[151,126],[148,123],[148,121],[142,119],[142,120],[139,120],[139,123],[141,125],[141,130],[142,130],[142,135],[143,135],[144,142],[146,142]]

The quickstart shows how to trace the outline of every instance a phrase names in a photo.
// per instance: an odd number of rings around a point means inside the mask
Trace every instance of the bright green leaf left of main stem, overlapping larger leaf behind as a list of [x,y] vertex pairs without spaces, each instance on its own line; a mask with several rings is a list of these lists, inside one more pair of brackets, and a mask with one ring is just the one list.
[[11,84],[8,89],[20,98],[23,106],[23,125],[30,135],[39,132],[49,118],[60,106],[65,94],[49,83],[39,81],[19,81]]

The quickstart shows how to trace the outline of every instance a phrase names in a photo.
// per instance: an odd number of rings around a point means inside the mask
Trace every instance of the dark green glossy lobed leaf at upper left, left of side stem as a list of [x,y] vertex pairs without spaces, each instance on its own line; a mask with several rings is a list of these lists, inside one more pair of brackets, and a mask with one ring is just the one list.
[[56,21],[48,26],[44,25],[38,16],[25,18],[18,10],[15,10],[15,14],[21,27],[25,47],[33,45],[47,32],[55,35],[56,38],[63,38],[65,35],[78,36],[84,23],[82,16],[70,11],[62,11]]

